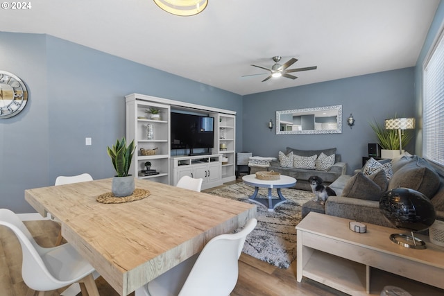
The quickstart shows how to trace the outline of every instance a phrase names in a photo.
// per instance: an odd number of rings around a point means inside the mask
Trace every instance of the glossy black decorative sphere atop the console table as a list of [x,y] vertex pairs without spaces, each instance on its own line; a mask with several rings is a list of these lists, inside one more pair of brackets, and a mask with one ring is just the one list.
[[396,228],[421,232],[432,226],[436,211],[424,194],[407,188],[387,191],[379,200],[379,210]]

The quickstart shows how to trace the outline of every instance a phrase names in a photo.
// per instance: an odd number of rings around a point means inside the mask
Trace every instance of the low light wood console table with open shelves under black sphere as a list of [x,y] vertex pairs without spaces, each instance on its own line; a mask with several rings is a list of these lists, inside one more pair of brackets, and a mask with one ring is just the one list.
[[444,295],[444,247],[418,236],[427,249],[390,241],[395,228],[367,224],[352,232],[350,220],[310,212],[296,226],[297,280],[307,277],[350,295],[378,295],[384,286],[399,286],[413,296]]

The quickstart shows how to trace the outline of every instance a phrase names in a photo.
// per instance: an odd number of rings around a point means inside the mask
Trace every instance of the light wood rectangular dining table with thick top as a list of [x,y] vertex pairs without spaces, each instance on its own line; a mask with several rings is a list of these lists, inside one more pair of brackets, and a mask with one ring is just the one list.
[[229,198],[135,179],[149,191],[141,200],[97,202],[112,178],[25,191],[42,216],[58,218],[62,236],[108,284],[128,295],[200,252],[214,236],[256,216],[256,206]]

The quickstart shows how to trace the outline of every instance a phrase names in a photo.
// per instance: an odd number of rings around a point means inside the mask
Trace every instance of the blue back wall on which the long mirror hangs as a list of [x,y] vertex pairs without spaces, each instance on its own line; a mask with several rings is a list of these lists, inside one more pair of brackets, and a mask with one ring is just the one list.
[[[368,143],[377,143],[370,122],[415,114],[413,80],[411,67],[244,96],[243,148],[253,155],[277,157],[287,146],[307,150],[336,147],[350,174],[362,167]],[[341,134],[275,134],[267,127],[270,119],[275,123],[276,111],[331,105],[343,107]],[[352,129],[346,123],[350,113],[356,119]],[[406,149],[414,153],[413,143]]]

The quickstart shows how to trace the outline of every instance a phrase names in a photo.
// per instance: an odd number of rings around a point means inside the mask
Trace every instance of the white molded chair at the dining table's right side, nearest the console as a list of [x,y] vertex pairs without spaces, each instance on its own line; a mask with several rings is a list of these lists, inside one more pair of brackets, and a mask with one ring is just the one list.
[[250,219],[237,234],[221,234],[191,256],[135,291],[135,296],[228,296],[236,286],[238,260],[246,236],[257,225]]

